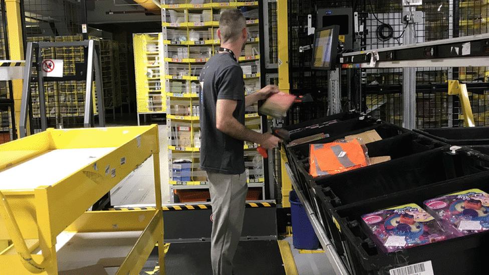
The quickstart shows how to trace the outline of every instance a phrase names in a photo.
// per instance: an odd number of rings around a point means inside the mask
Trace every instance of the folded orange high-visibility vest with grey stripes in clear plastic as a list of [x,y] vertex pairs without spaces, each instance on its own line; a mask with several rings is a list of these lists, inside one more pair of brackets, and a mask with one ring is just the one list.
[[334,175],[367,166],[367,157],[357,139],[311,144],[309,173],[313,177]]

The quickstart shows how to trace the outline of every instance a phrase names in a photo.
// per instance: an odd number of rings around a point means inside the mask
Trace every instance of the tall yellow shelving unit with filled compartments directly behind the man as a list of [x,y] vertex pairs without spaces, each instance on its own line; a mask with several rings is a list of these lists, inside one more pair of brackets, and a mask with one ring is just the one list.
[[[217,37],[219,11],[249,7],[258,9],[259,2],[212,2],[204,0],[202,4],[190,4],[185,0],[173,0],[162,3],[162,36],[165,63],[165,87],[167,105],[167,127],[169,133],[169,172],[170,191],[178,189],[208,188],[204,171],[199,170],[200,157],[200,125],[199,125],[199,94],[198,76],[205,62],[218,50],[220,41]],[[257,13],[258,14],[258,13]],[[250,38],[241,53],[239,63],[243,71],[246,85],[245,94],[260,89],[260,52],[258,18],[247,18]],[[258,107],[247,109],[246,126],[261,131],[261,117]],[[256,151],[257,144],[244,145],[247,163],[256,161],[261,156]],[[185,175],[173,176],[174,164],[177,159],[186,159],[191,164],[191,171]],[[264,188],[263,158],[258,169],[250,168],[250,187]],[[188,166],[188,165],[187,165]],[[180,167],[180,166],[179,166]],[[261,170],[261,171],[258,171]],[[248,169],[247,169],[248,171]],[[255,175],[260,176],[256,177]],[[252,176],[253,175],[253,176]],[[173,199],[171,197],[171,199]]]

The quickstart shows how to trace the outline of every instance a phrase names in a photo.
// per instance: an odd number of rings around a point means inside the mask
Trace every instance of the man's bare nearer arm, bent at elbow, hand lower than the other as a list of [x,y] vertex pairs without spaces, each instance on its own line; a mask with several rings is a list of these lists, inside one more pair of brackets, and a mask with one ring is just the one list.
[[237,102],[235,100],[217,100],[215,110],[215,127],[217,130],[235,139],[258,143],[266,149],[276,147],[280,142],[278,137],[270,133],[261,134],[250,130],[232,116],[236,105]]

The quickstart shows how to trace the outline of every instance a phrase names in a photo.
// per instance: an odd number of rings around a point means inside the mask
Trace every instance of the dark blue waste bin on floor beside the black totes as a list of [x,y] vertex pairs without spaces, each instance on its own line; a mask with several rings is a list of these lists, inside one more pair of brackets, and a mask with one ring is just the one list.
[[292,241],[294,247],[308,250],[317,249],[319,247],[319,239],[296,191],[290,191],[289,201],[291,203]]

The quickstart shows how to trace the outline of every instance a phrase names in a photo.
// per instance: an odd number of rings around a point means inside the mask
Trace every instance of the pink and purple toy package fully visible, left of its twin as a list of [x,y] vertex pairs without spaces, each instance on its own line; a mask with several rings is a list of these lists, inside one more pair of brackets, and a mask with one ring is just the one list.
[[362,215],[362,220],[383,252],[428,244],[450,236],[433,216],[414,203]]

